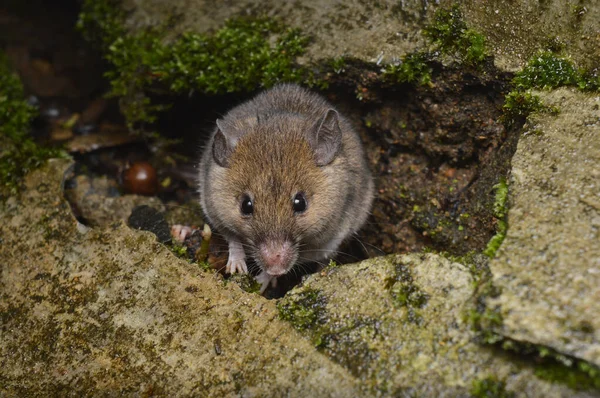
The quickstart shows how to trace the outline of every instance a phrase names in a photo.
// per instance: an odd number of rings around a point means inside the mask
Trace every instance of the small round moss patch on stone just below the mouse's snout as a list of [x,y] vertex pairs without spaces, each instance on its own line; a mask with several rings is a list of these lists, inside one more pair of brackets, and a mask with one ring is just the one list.
[[313,331],[326,320],[325,298],[315,289],[304,289],[277,303],[279,317],[294,328]]

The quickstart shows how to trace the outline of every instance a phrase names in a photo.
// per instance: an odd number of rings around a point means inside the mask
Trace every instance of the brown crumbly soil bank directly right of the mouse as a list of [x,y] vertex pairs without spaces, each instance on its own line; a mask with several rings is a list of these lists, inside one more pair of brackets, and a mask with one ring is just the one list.
[[492,187],[508,171],[518,134],[500,121],[509,79],[491,64],[437,65],[431,86],[373,84],[368,101],[342,102],[376,179],[373,215],[361,234],[372,254],[485,247],[495,232]]

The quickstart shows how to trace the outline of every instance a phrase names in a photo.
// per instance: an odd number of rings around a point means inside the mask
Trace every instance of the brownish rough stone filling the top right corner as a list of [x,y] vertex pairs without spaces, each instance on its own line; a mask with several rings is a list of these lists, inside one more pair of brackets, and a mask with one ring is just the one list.
[[516,71],[554,42],[580,66],[600,65],[600,3],[563,0],[461,1],[469,27],[490,43],[500,69]]

